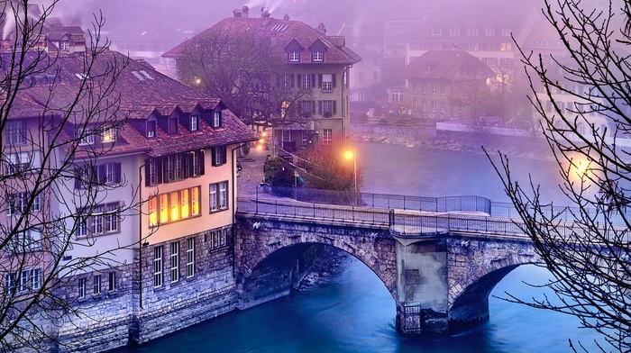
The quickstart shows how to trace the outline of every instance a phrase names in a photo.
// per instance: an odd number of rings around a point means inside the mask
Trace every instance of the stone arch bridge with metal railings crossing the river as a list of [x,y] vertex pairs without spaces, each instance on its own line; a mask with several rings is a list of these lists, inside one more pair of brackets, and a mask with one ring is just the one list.
[[240,199],[239,307],[289,293],[314,244],[351,254],[380,277],[407,335],[445,334],[489,319],[489,294],[514,268],[539,262],[517,220],[482,213]]

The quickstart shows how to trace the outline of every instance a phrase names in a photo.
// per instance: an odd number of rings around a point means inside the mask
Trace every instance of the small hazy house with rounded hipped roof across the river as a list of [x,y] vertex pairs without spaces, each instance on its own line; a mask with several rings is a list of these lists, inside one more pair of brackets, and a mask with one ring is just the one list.
[[475,117],[476,105],[495,74],[466,51],[430,50],[412,60],[403,76],[413,111],[444,120]]

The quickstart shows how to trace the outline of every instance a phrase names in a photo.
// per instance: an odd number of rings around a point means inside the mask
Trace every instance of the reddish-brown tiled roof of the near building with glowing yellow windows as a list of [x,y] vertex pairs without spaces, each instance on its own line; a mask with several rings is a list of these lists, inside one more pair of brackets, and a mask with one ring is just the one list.
[[[77,95],[78,87],[84,82],[84,59],[86,53],[55,54],[56,61],[52,68],[28,79],[34,86],[25,88],[20,92],[10,112],[10,118],[34,118],[41,115],[44,106],[48,112],[66,112],[66,108],[72,103],[72,98]],[[10,52],[0,53],[2,68],[6,68]],[[114,51],[106,51],[96,60],[87,85],[94,86],[96,92],[107,89],[107,79],[99,77],[107,73],[113,67],[122,68],[126,60],[122,54]],[[32,55],[29,56],[32,59]],[[59,70],[58,78],[54,72]],[[108,74],[111,76],[111,73]],[[60,79],[60,80],[59,80]],[[56,81],[54,89],[50,92],[50,82]],[[50,101],[48,100],[51,94]],[[161,155],[178,150],[203,149],[212,146],[240,143],[257,140],[257,136],[239,120],[233,113],[225,109],[224,104],[217,98],[212,98],[184,86],[172,78],[160,74],[160,72],[148,68],[146,65],[134,60],[129,60],[128,66],[117,77],[112,93],[107,96],[105,104],[112,104],[118,100],[120,110],[117,117],[129,117],[127,124],[118,131],[118,140],[114,148],[108,153],[130,153],[146,151],[150,155]],[[48,103],[47,103],[48,102]],[[87,100],[79,102],[80,107],[86,107]],[[191,132],[186,127],[179,126],[178,134],[170,135],[160,129],[158,124],[157,137],[147,139],[144,136],[144,124],[151,116],[157,119],[168,119],[171,114],[179,113],[182,116],[199,112],[210,112],[215,108],[223,110],[220,129],[214,129],[200,119],[199,131]],[[81,116],[81,114],[79,114]],[[95,121],[94,119],[92,120]],[[64,131],[72,137],[74,128],[67,126]]]

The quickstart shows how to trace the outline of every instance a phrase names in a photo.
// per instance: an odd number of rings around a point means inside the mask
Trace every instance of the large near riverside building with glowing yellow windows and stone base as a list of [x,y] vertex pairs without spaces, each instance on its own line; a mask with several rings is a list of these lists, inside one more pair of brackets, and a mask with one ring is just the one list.
[[[234,151],[257,136],[221,100],[144,63],[105,50],[87,74],[85,47],[49,39],[54,64],[26,77],[3,129],[12,191],[0,226],[16,234],[0,254],[5,303],[50,290],[68,302],[59,310],[78,309],[38,321],[60,351],[142,342],[177,330],[175,317],[181,328],[232,310]],[[108,94],[74,101],[80,86]],[[178,313],[174,298],[191,310]]]

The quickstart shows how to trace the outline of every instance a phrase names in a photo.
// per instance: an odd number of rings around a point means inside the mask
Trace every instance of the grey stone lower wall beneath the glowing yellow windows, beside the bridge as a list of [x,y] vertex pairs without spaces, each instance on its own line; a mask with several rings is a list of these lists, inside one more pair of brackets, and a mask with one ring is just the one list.
[[[214,240],[215,231],[197,233],[195,239],[195,275],[187,277],[187,239],[179,238],[178,282],[170,278],[170,243],[142,248],[142,307],[136,315],[138,343],[156,339],[201,321],[231,312],[237,302],[233,278],[233,233],[228,232],[224,245]],[[164,282],[154,287],[154,249],[163,249]]]

